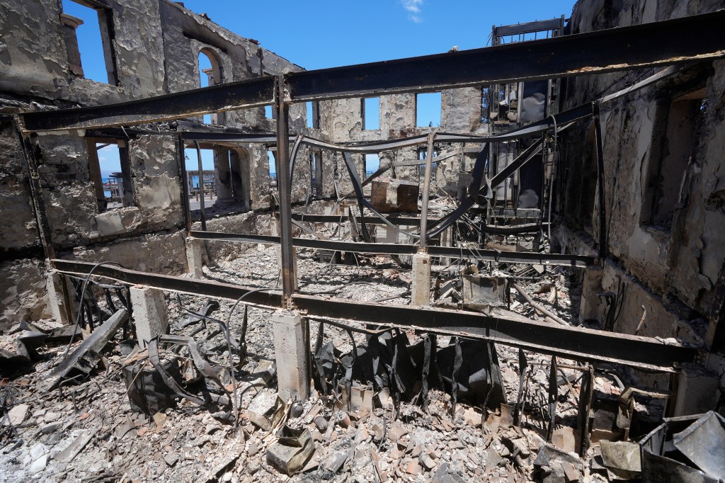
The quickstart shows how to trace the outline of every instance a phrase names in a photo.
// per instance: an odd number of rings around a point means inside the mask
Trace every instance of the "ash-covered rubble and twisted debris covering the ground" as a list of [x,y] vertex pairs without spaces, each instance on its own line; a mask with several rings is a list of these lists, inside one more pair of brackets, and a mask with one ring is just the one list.
[[[384,257],[347,265],[320,261],[311,250],[298,256],[302,292],[388,299],[378,303],[409,297],[407,272]],[[244,257],[206,267],[205,276],[273,289],[275,257],[273,247],[253,246]],[[472,270],[452,268],[439,267],[441,278],[460,280]],[[531,270],[518,283],[572,320],[568,274]],[[544,319],[510,286],[504,293],[502,306]],[[70,354],[109,320],[104,292],[96,287],[94,294],[98,318],[86,318]],[[624,371],[597,365],[585,447],[581,399],[589,366],[559,358],[552,379],[547,355],[315,320],[312,397],[284,401],[276,391],[270,310],[244,305],[230,316],[232,307],[167,296],[173,335],[141,349],[127,340],[132,327],[117,328],[94,351],[95,366],[69,372],[45,392],[66,360],[70,334],[61,344],[47,339],[35,372],[4,379],[2,474],[9,481],[605,481],[621,471],[602,460],[602,442],[634,440],[662,411],[657,395],[627,390]],[[43,321],[34,326],[52,333]],[[23,332],[9,332],[2,344],[12,348]]]

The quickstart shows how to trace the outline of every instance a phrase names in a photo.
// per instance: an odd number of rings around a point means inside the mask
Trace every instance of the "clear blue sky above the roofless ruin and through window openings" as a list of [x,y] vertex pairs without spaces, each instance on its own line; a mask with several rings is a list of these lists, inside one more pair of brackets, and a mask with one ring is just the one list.
[[[65,12],[85,21],[77,33],[86,77],[106,82],[96,13],[72,0],[62,0],[62,3]],[[297,65],[321,69],[439,54],[452,46],[477,49],[489,43],[493,25],[561,15],[568,18],[574,1],[184,0],[183,3],[242,37],[260,41],[265,49]],[[86,62],[89,57],[99,61]],[[435,121],[434,111],[434,107],[426,108],[421,103],[419,112],[423,119],[419,123]],[[189,168],[192,168],[196,165],[196,153],[190,158]],[[207,162],[210,160],[204,159],[205,168]]]

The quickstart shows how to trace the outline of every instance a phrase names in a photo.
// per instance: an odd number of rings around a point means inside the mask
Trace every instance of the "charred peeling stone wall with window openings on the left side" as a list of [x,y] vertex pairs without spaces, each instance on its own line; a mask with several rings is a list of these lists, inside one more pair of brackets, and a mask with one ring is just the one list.
[[[72,27],[77,22],[62,12],[59,0],[0,0],[0,108],[9,115],[0,124],[0,326],[37,318],[46,310],[42,218],[34,210],[30,173],[12,113],[112,104],[198,88],[200,53],[217,68],[213,83],[301,69],[174,1],[84,4],[99,13],[107,83],[83,77]],[[290,114],[291,131],[305,130],[305,104],[292,107]],[[190,121],[203,122],[200,117]],[[276,128],[276,120],[266,119],[263,108],[214,115],[212,123],[252,131]],[[30,136],[41,208],[58,257],[116,260],[128,268],[165,273],[186,271],[181,174],[175,136],[170,134],[100,139],[70,131]],[[96,144],[108,142],[120,146],[128,159],[125,183],[133,196],[123,207],[105,207],[99,200],[103,188]],[[244,152],[247,207],[268,206],[275,187],[266,147],[239,146],[239,151]],[[310,190],[309,166],[303,162],[299,168],[293,179],[294,201],[305,200]]]

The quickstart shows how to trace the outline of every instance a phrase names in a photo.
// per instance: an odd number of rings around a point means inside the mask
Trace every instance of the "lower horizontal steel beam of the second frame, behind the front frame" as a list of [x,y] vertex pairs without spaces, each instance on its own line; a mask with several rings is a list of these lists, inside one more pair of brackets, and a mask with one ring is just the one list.
[[[202,240],[233,241],[237,243],[279,244],[279,236],[228,234],[218,231],[191,231],[190,236]],[[396,243],[359,243],[357,241],[315,240],[293,238],[295,247],[336,250],[338,252],[380,253],[384,255],[415,255],[418,247]],[[428,247],[428,254],[434,257],[463,258],[465,260],[486,260],[500,263],[536,263],[539,265],[560,265],[586,268],[594,265],[595,259],[584,255],[560,255],[556,253],[499,252],[489,249],[465,247]]]

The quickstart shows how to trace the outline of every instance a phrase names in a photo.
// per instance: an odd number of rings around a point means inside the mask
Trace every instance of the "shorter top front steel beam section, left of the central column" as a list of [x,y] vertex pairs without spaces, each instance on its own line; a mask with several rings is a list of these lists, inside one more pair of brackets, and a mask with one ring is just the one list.
[[118,104],[55,111],[25,112],[25,131],[107,128],[183,119],[272,104],[274,79],[262,77]]

